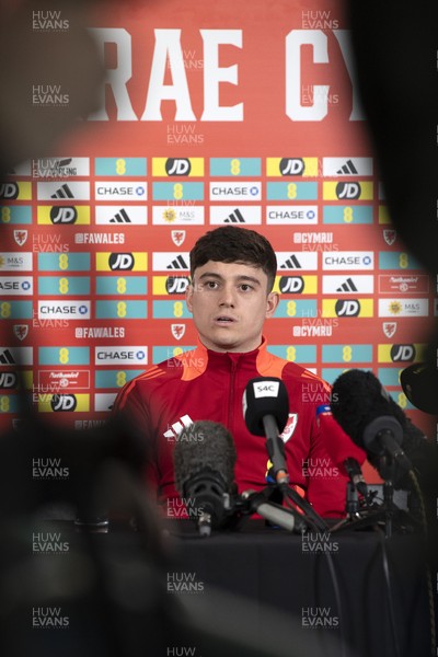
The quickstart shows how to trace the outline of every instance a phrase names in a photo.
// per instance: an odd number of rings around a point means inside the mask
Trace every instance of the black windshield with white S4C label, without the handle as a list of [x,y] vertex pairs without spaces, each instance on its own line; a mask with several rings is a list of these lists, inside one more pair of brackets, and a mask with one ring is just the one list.
[[251,379],[243,393],[243,417],[247,430],[265,436],[263,418],[273,415],[281,434],[289,418],[289,397],[286,385],[276,377]]

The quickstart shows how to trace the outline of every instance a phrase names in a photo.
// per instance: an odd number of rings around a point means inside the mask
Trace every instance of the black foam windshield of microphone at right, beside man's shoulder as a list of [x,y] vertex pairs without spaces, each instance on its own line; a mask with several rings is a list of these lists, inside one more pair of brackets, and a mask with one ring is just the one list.
[[[406,426],[402,408],[371,371],[351,369],[341,374],[333,383],[331,407],[333,417],[360,447],[370,447],[365,446],[364,436],[367,427],[378,418],[392,416],[387,427],[390,430],[395,427],[394,418],[402,429]],[[379,429],[384,428],[382,423],[379,422]]]

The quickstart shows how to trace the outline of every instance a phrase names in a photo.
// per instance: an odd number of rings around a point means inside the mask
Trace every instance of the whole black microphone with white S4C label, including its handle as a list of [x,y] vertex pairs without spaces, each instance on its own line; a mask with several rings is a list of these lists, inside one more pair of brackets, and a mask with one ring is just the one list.
[[289,397],[281,379],[251,379],[243,393],[243,417],[251,434],[266,437],[276,483],[288,484],[285,443],[279,435],[289,417]]

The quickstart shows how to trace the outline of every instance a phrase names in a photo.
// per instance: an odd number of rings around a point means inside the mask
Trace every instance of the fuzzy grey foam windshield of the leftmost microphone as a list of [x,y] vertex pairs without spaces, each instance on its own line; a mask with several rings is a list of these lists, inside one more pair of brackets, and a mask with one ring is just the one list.
[[234,441],[223,425],[207,419],[195,422],[181,431],[173,451],[176,491],[184,495],[186,483],[206,470],[220,475],[226,489],[230,489],[235,460]]

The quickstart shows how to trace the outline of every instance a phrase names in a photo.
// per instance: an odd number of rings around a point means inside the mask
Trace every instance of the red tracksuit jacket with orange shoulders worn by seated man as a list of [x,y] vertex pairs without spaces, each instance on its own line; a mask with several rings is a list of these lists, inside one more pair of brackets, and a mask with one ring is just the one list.
[[193,351],[149,367],[119,392],[114,411],[134,417],[153,445],[147,480],[158,498],[165,503],[178,497],[172,458],[175,437],[201,419],[223,424],[233,436],[239,492],[266,485],[266,443],[249,433],[242,412],[244,389],[254,377],[278,377],[288,390],[290,417],[281,437],[290,483],[304,491],[321,516],[344,516],[347,479],[325,449],[325,441],[336,436],[323,435],[315,417],[316,407],[328,403],[330,387],[270,354],[266,341],[244,354],[211,351],[198,343]]

